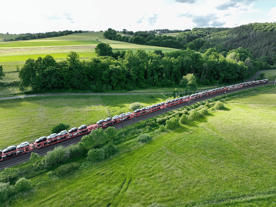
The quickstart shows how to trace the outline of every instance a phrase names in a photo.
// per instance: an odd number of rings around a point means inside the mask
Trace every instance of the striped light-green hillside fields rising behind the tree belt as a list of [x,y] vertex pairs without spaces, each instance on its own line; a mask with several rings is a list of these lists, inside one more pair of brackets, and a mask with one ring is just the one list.
[[[2,36],[3,38],[6,38],[6,36],[9,35]],[[96,56],[94,53],[95,47],[100,42],[109,43],[113,48],[113,52],[116,50],[128,49],[136,52],[136,49],[138,48],[143,48],[147,52],[153,52],[154,50],[171,52],[176,50],[172,48],[106,40],[103,37],[103,32],[77,33],[36,40],[0,42],[0,65],[3,66],[3,72],[5,73],[4,79],[0,80],[0,97],[20,94],[17,87],[20,80],[18,78],[16,66],[18,65],[19,68],[22,67],[28,58],[36,59],[38,57],[43,58],[46,55],[52,55],[57,61],[59,61],[64,60],[67,54],[71,51],[77,52],[81,58],[91,58]]]

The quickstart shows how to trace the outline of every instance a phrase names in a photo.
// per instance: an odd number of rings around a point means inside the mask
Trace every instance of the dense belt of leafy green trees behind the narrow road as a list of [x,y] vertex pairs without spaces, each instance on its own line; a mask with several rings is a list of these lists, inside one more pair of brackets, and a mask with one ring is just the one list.
[[[97,47],[111,48],[100,43]],[[162,51],[146,53],[137,49],[123,53],[123,58],[99,56],[79,60],[76,52],[70,52],[66,60],[56,62],[47,55],[37,60],[28,59],[19,70],[21,91],[31,87],[34,91],[54,89],[133,90],[151,86],[172,87],[187,74],[194,74],[198,84],[219,84],[243,81],[258,70],[271,69],[243,48],[230,50],[226,57],[209,48],[203,55],[194,50],[178,50],[162,55]]]

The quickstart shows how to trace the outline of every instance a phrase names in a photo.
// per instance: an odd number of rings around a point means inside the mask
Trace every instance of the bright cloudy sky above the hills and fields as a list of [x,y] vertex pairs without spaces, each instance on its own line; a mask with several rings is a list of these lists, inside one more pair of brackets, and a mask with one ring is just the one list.
[[1,2],[0,33],[237,27],[276,21],[276,0],[14,0]]

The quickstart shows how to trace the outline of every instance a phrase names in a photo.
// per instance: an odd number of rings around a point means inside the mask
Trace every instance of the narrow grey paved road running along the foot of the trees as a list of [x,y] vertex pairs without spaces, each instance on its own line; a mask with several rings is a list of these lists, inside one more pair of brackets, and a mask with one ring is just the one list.
[[[259,76],[261,72],[264,72],[267,70],[261,70],[257,72],[252,78],[245,80],[246,82],[252,81],[255,78]],[[198,90],[195,92],[201,92],[205,90]],[[187,91],[187,93],[191,93],[192,91]],[[62,95],[139,95],[139,94],[171,94],[172,92],[165,92],[165,93],[116,93],[116,94],[105,94],[105,93],[62,93],[62,94],[33,94],[33,95],[25,95],[25,96],[11,96],[11,97],[5,97],[5,98],[0,98],[0,100],[7,100],[7,99],[14,99],[14,98],[26,98],[26,97],[34,97],[34,96],[62,96]]]

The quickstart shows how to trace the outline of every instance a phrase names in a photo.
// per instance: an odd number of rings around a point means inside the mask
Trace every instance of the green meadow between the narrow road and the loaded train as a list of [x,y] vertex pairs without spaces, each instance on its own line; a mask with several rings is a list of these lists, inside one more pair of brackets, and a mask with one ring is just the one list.
[[48,136],[58,123],[70,124],[71,128],[94,124],[109,117],[108,110],[112,117],[128,112],[132,102],[152,105],[166,98],[162,94],[155,95],[155,98],[149,98],[149,95],[75,95],[0,101],[0,125],[10,126],[5,128],[7,133],[1,135],[0,149]]

